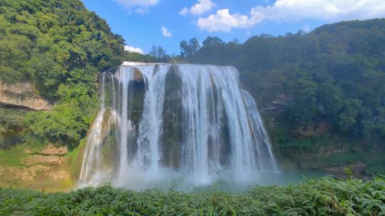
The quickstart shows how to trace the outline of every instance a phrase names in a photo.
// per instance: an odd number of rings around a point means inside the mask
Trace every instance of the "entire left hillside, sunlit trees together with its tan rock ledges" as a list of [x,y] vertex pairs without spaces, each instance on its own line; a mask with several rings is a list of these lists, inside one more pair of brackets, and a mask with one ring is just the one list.
[[0,186],[71,188],[123,38],[79,0],[0,0],[0,29]]

